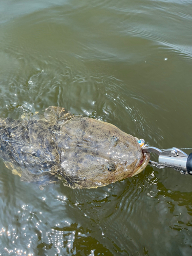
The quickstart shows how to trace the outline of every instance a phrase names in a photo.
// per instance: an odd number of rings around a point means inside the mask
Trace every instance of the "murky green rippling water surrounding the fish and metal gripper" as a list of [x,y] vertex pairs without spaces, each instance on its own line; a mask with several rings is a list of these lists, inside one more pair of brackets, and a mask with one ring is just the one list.
[[[191,24],[189,0],[1,0],[0,116],[59,105],[191,147]],[[0,255],[192,254],[189,175],[41,191],[0,164]]]

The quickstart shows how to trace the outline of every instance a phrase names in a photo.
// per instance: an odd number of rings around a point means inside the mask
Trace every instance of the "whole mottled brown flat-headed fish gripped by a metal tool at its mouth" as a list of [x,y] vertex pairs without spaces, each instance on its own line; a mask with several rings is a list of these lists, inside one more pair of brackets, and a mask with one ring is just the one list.
[[96,188],[132,177],[150,160],[135,137],[113,124],[54,106],[44,116],[0,119],[0,157],[24,181],[46,185],[62,179],[71,188]]

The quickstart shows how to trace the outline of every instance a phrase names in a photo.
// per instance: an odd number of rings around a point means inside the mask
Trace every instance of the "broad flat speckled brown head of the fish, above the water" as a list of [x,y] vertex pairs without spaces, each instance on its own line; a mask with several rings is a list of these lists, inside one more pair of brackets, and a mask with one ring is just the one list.
[[150,160],[137,138],[107,122],[75,117],[60,132],[65,134],[61,165],[73,188],[96,188],[132,177]]

